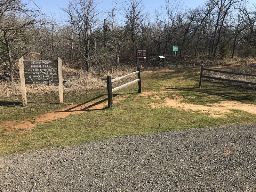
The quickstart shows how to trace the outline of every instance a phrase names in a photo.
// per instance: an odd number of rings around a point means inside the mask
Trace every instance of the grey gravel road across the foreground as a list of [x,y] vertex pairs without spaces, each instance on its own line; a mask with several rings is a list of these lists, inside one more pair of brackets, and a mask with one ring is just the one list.
[[256,191],[256,125],[2,156],[0,191]]

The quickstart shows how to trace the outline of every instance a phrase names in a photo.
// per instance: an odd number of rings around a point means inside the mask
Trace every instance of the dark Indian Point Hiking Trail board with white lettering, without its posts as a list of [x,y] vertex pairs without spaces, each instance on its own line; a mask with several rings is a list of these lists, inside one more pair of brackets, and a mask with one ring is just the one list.
[[50,84],[58,81],[57,60],[24,61],[25,84]]

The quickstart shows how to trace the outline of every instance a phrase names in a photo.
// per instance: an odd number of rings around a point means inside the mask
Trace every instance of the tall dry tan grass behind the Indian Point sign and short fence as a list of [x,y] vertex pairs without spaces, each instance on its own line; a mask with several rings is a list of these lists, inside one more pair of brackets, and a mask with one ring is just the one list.
[[[84,69],[74,69],[69,67],[63,67],[63,81],[64,81],[64,92],[80,92],[89,91],[94,89],[105,89],[107,87],[106,77],[107,75],[112,76],[112,79],[129,74],[135,70],[132,68],[126,69],[115,69],[102,73],[100,76],[96,73],[93,68],[90,68],[90,73],[86,74]],[[130,77],[132,78],[132,77]],[[127,78],[129,79],[129,78]],[[126,79],[126,80],[127,80]],[[125,81],[125,80],[124,80]],[[117,82],[120,84],[122,81]],[[114,86],[116,85],[114,84]],[[40,93],[53,93],[58,92],[57,84],[27,84],[26,92],[30,94]],[[8,81],[0,81],[0,97],[9,97],[10,95],[20,95],[20,82],[16,81],[12,84]]]

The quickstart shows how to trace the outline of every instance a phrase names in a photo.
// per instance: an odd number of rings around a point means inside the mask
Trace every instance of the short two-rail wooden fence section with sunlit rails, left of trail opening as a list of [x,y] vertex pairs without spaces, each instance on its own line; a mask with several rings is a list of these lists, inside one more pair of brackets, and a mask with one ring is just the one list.
[[[132,75],[135,75],[135,74],[138,74],[138,79],[135,79],[129,83],[126,83],[126,84],[123,84],[123,85],[120,85],[119,87],[116,87],[114,89],[112,89],[112,83],[115,82],[115,81],[118,81],[118,80],[121,80],[121,79],[124,79],[125,77],[129,77],[129,76],[132,76]],[[128,75],[124,75],[124,76],[121,76],[121,77],[117,77],[115,79],[112,79],[111,76],[107,76],[107,87],[108,87],[108,108],[112,108],[113,107],[113,92],[114,91],[117,91],[119,89],[123,89],[125,87],[128,87],[132,84],[135,84],[138,82],[138,85],[139,85],[139,90],[138,92],[141,93],[141,78],[140,78],[140,68],[137,67],[137,71],[133,72],[133,73],[130,73]]]

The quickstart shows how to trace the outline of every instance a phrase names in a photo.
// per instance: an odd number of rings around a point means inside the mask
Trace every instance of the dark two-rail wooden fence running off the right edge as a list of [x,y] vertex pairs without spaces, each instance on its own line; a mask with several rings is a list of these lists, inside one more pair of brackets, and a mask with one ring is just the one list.
[[232,75],[243,75],[243,76],[253,76],[253,77],[256,77],[255,74],[236,73],[236,72],[221,71],[221,70],[216,70],[216,69],[206,69],[206,68],[204,68],[204,65],[201,65],[201,72],[200,72],[200,79],[199,79],[199,88],[201,88],[202,78],[256,85],[255,82],[239,81],[239,80],[234,80],[234,79],[224,79],[224,78],[219,78],[219,77],[206,76],[206,75],[203,75],[203,71],[214,71],[214,72],[218,72],[218,73],[226,73],[226,74],[232,74]]

